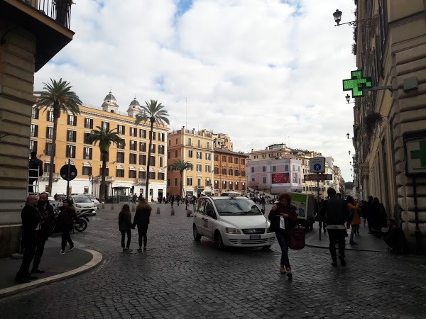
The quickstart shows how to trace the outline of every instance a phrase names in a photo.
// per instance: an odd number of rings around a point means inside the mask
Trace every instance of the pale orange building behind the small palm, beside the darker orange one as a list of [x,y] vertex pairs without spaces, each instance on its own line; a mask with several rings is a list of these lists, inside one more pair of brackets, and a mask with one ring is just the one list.
[[180,172],[172,172],[170,165],[177,160],[192,163],[192,169],[182,174],[183,194],[197,196],[212,194],[213,180],[213,137],[209,130],[185,129],[168,133],[168,178],[167,193],[180,194]]

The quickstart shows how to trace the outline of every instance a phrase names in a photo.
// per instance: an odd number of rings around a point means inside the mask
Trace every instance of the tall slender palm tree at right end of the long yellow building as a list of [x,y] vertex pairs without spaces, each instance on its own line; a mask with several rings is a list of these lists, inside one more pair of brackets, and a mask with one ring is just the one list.
[[141,106],[141,111],[136,115],[136,125],[141,122],[150,122],[151,131],[149,133],[149,148],[148,148],[148,162],[146,165],[146,190],[145,198],[148,198],[148,186],[149,186],[149,167],[151,164],[151,147],[153,145],[153,128],[154,123],[160,123],[165,125],[165,123],[170,124],[167,116],[168,113],[166,110],[163,110],[164,106],[157,101],[151,100],[150,103],[145,101],[144,106]]

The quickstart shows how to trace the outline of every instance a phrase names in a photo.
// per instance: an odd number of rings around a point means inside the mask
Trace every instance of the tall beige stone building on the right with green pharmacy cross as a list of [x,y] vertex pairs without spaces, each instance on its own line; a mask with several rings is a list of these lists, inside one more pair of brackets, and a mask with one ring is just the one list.
[[[356,65],[372,77],[373,86],[390,87],[356,99],[356,189],[364,199],[378,197],[388,216],[401,222],[411,247],[417,233],[417,243],[422,242],[426,250],[426,178],[415,177],[415,198],[413,176],[405,174],[426,172],[422,146],[426,141],[426,3],[368,0],[356,4],[358,20],[366,19],[354,27]],[[414,169],[406,170],[408,162]]]

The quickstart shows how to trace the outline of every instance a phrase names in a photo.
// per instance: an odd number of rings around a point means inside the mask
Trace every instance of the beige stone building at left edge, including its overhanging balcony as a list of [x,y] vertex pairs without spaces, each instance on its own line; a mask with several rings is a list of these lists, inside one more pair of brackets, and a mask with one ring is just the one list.
[[[27,195],[34,73],[70,43],[70,6],[0,0],[0,257],[18,250]],[[40,6],[39,6],[40,4]]]

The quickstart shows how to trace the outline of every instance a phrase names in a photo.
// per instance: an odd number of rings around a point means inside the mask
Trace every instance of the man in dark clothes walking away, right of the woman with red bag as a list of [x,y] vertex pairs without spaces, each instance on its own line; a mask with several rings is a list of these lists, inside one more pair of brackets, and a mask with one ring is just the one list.
[[349,208],[343,199],[336,197],[336,191],[332,187],[327,189],[327,194],[329,198],[322,203],[321,211],[326,217],[332,266],[337,267],[336,244],[338,244],[340,264],[344,267],[346,266],[344,238],[348,236],[346,228],[349,227]]

